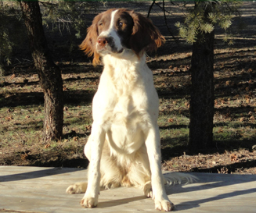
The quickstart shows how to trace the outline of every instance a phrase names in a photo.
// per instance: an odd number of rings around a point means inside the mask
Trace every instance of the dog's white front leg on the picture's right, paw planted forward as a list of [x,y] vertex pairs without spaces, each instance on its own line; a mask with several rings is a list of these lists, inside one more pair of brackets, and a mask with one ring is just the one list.
[[174,209],[174,204],[168,199],[164,188],[164,179],[161,172],[160,133],[158,126],[152,126],[146,133],[146,150],[150,160],[151,183],[155,208],[164,211]]

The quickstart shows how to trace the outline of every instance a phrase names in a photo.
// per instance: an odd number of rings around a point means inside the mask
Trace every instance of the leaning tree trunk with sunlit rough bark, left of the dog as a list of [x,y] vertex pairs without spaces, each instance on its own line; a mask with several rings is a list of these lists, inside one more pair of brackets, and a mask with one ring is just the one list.
[[45,95],[45,119],[42,141],[59,140],[63,133],[63,81],[59,67],[52,61],[42,27],[38,1],[20,2],[27,27],[34,66]]

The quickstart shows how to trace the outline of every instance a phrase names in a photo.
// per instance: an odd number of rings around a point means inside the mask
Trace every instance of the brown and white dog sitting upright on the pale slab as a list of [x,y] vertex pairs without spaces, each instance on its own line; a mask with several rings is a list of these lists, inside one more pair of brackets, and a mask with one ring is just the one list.
[[159,102],[145,55],[163,43],[150,20],[128,9],[102,12],[88,27],[81,49],[93,55],[95,65],[102,57],[104,69],[92,102],[92,133],[85,145],[88,183],[67,188],[67,193],[85,192],[81,200],[85,208],[96,207],[100,186],[140,187],[146,197],[153,197],[155,208],[174,208],[164,189]]

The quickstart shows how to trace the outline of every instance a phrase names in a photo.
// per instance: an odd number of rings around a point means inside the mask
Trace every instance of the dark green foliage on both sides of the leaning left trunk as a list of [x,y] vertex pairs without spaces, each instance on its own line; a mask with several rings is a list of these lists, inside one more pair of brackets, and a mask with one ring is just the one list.
[[[102,2],[101,2],[102,3]],[[95,12],[99,2],[70,0],[41,0],[42,21],[50,37],[65,36],[64,48],[72,51],[78,48],[77,38],[86,33],[85,20],[89,12]],[[59,41],[59,39],[55,39]],[[18,1],[0,0],[0,76],[4,64],[9,64],[14,51],[20,51],[27,41]],[[57,44],[60,45],[60,44]],[[27,48],[25,46],[24,48]]]

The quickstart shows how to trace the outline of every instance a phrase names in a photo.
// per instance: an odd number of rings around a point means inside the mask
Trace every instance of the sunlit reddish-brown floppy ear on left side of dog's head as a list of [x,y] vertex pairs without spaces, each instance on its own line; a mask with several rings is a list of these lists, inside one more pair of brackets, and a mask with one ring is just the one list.
[[92,25],[88,27],[87,35],[85,37],[85,40],[80,44],[81,50],[85,52],[86,55],[92,56],[93,60],[92,64],[96,66],[99,64],[99,53],[96,51],[96,43],[97,43],[97,37],[99,36],[98,32],[98,22],[101,19],[102,14],[99,14],[94,18],[92,21]]

